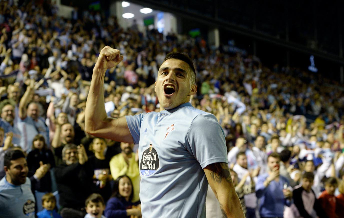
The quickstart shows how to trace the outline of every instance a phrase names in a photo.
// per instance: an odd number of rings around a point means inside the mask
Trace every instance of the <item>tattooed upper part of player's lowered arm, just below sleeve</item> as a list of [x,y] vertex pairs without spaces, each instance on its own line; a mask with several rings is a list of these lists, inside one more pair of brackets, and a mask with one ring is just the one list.
[[[204,168],[205,176],[215,195],[225,190],[235,191],[227,163],[212,163]],[[221,190],[221,192],[219,192]]]

